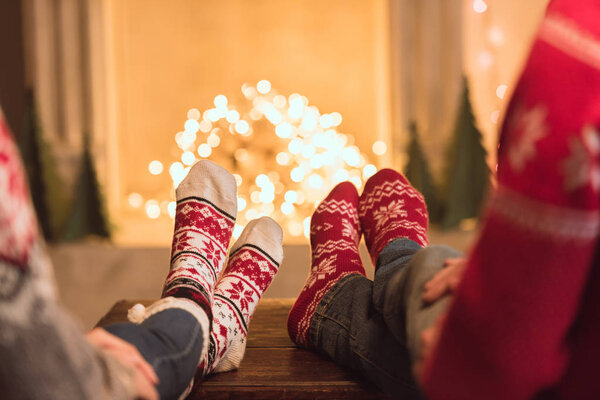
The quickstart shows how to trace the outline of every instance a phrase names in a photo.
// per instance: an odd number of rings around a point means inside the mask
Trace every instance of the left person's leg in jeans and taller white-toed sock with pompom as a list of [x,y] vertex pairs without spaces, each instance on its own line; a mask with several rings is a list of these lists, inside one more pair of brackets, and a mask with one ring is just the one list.
[[134,306],[129,319],[136,324],[106,328],[155,367],[164,398],[182,394],[206,354],[213,292],[237,212],[235,179],[206,160],[192,167],[176,197],[171,266],[162,298],[148,308]]

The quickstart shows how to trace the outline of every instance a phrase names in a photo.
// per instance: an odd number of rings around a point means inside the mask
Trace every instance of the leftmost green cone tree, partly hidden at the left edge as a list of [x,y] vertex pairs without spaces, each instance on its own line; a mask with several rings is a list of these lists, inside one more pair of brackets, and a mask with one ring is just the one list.
[[64,186],[56,173],[51,149],[44,140],[32,90],[26,94],[18,146],[42,233],[48,241],[59,240],[67,213]]

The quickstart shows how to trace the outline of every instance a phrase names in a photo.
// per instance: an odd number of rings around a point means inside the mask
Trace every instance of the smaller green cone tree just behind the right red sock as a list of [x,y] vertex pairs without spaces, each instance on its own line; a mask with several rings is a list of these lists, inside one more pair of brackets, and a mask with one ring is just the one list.
[[419,132],[414,121],[410,123],[409,131],[410,143],[408,145],[408,162],[404,167],[404,175],[406,175],[406,178],[408,178],[410,183],[425,197],[429,221],[432,223],[439,223],[443,216],[443,206],[429,171],[427,158],[419,143]]

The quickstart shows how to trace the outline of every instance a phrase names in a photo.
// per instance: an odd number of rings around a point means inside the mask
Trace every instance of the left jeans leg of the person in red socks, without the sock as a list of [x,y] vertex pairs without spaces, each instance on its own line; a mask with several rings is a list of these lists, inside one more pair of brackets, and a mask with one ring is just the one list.
[[393,398],[418,399],[406,346],[373,307],[373,282],[362,275],[338,281],[317,306],[310,342]]

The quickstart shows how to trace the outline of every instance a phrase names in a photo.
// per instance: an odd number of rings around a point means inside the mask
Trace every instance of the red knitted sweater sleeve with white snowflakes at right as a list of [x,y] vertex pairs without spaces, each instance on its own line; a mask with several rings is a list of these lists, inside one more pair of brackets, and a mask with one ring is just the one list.
[[[552,3],[509,106],[498,187],[426,360],[431,399],[531,398],[568,362],[566,335],[599,232],[600,53],[582,51],[600,46],[600,35],[561,3]],[[597,2],[587,12],[600,20]]]

